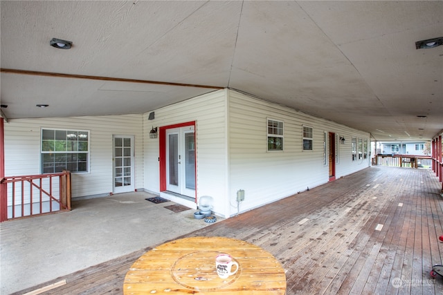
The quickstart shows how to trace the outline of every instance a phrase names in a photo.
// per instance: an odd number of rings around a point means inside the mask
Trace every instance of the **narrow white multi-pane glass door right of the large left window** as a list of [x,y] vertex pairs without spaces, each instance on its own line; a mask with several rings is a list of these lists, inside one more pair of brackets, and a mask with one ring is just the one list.
[[114,193],[135,190],[134,184],[134,135],[114,135]]

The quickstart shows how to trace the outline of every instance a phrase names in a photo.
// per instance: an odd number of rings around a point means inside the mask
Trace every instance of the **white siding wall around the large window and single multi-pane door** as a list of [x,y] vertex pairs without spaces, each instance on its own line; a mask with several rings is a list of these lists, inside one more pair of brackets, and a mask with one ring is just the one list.
[[105,195],[113,189],[112,135],[134,135],[136,188],[143,188],[142,122],[142,115],[10,120],[5,124],[5,173],[7,176],[40,173],[42,128],[87,130],[91,144],[90,171],[72,174],[72,196]]

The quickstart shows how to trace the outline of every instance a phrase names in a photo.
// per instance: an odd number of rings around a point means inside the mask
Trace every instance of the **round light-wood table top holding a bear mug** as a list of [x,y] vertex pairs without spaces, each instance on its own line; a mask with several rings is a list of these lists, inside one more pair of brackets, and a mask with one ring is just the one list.
[[[215,256],[229,254],[236,274],[219,278]],[[235,269],[235,266],[233,270]],[[194,237],[166,242],[138,258],[125,276],[123,294],[283,295],[282,265],[264,249],[242,240]]]

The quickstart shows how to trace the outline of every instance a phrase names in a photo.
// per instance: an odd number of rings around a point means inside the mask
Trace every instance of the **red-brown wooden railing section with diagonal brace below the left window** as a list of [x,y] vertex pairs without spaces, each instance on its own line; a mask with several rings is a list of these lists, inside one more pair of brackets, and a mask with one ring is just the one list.
[[71,210],[71,173],[11,176],[0,181],[0,222]]

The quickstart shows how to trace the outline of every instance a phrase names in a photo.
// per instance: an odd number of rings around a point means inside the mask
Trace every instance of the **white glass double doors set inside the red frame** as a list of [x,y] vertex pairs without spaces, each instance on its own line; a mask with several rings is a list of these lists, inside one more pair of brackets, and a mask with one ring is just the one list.
[[194,126],[166,131],[166,189],[195,198]]

